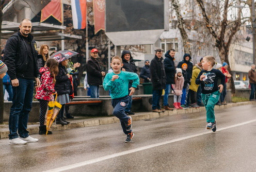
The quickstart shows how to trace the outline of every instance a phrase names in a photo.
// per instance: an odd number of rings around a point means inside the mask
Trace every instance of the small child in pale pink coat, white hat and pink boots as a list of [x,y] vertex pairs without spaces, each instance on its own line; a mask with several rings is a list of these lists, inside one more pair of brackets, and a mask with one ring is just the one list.
[[173,106],[175,109],[183,109],[181,107],[181,95],[182,95],[183,85],[184,85],[184,77],[182,76],[182,70],[181,68],[176,68],[175,84],[172,84],[173,90],[174,90],[172,91],[172,94],[174,94]]

